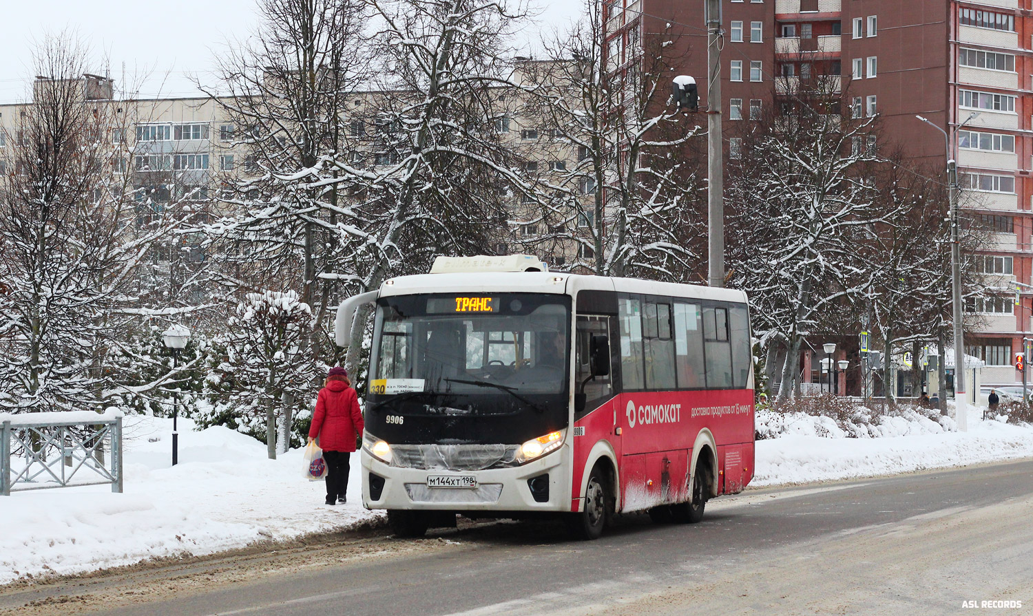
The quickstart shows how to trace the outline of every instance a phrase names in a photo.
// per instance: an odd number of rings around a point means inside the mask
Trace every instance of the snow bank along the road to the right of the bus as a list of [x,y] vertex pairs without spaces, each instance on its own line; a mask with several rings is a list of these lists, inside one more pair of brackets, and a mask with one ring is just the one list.
[[867,435],[872,437],[847,437],[853,434],[829,417],[794,413],[778,419],[773,415],[777,414],[757,414],[757,430],[763,426],[779,436],[757,441],[756,473],[751,486],[1033,457],[1033,427],[1007,424],[1003,417],[982,421],[982,409],[969,409],[967,432],[957,431],[950,418],[938,423],[920,413],[905,412],[880,417],[874,425],[865,424]]

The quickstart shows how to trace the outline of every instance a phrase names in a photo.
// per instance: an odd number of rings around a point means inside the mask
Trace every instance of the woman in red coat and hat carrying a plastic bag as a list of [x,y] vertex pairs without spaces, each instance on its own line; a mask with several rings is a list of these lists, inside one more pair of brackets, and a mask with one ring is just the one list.
[[355,451],[355,435],[363,433],[363,427],[358,395],[351,388],[348,372],[342,367],[331,368],[319,390],[309,428],[309,443],[319,437],[326,462],[326,505],[346,500],[351,452]]

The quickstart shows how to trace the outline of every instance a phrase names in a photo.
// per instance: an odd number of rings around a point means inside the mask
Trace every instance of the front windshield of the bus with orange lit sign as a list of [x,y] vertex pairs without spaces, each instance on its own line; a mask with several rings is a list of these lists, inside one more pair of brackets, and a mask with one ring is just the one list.
[[386,297],[377,310],[371,395],[526,398],[566,391],[569,300],[518,293]]

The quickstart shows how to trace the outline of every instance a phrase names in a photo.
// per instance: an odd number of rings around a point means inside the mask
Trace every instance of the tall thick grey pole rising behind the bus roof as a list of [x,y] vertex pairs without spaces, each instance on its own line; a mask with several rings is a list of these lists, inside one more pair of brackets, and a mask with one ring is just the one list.
[[711,287],[724,286],[724,148],[721,143],[721,0],[707,0],[707,165],[708,274]]

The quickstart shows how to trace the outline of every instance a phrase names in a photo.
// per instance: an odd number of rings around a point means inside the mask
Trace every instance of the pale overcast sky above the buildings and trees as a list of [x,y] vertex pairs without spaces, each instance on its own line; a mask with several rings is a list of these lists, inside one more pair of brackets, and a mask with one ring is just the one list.
[[[581,10],[581,0],[537,0],[539,21],[552,30]],[[33,77],[32,47],[45,33],[75,32],[95,57],[91,70],[122,80],[150,75],[140,96],[195,96],[188,75],[211,83],[213,58],[227,39],[254,30],[254,0],[2,0],[0,102],[26,97]],[[531,38],[531,32],[527,33]],[[104,66],[104,60],[109,62]],[[134,82],[132,78],[127,82]]]

